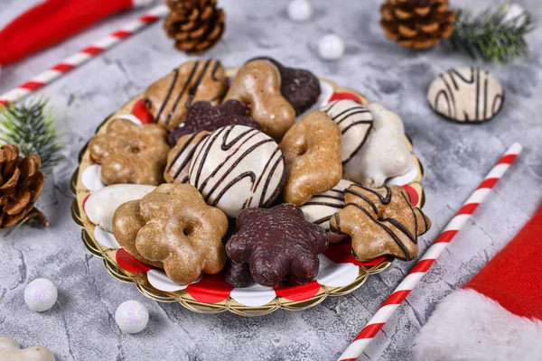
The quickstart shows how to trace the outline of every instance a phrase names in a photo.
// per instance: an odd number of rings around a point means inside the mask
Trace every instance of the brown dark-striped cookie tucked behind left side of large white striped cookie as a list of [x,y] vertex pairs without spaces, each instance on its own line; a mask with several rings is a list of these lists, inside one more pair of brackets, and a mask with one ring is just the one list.
[[164,171],[164,180],[168,183],[188,182],[188,169],[196,146],[205,139],[210,132],[201,130],[194,134],[182,135],[173,149],[167,153],[167,165]]

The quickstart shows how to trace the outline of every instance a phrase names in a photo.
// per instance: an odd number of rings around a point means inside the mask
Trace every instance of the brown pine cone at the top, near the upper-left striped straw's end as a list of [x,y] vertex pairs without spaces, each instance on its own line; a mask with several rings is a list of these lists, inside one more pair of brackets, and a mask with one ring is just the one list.
[[167,0],[172,10],[164,23],[167,35],[180,51],[206,51],[220,41],[225,14],[216,0]]

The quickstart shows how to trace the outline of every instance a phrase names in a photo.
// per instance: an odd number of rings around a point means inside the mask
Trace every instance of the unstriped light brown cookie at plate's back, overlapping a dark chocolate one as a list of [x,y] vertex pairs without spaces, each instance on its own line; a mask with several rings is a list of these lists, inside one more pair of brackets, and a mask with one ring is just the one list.
[[272,62],[254,60],[243,65],[224,100],[237,99],[250,106],[249,113],[265,134],[280,139],[294,124],[294,107],[281,94],[280,72]]

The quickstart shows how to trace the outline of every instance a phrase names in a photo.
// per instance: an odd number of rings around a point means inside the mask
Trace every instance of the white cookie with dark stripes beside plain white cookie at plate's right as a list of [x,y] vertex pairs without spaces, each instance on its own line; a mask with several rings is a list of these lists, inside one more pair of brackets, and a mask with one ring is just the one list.
[[367,141],[373,125],[373,116],[362,104],[350,100],[336,100],[322,108],[341,128],[341,161],[349,162]]

